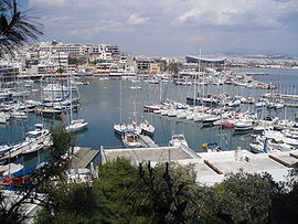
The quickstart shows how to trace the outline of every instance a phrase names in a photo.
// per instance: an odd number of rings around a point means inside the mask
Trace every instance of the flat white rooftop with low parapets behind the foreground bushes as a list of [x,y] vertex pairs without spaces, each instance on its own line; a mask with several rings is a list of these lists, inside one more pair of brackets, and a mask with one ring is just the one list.
[[156,147],[131,149],[100,148],[102,163],[113,162],[118,157],[131,164],[150,161],[151,166],[173,161],[182,166],[193,164],[196,182],[213,185],[225,174],[243,170],[247,173],[269,173],[276,181],[285,181],[290,169],[298,162],[298,150],[254,154],[247,150],[194,152],[185,147]]

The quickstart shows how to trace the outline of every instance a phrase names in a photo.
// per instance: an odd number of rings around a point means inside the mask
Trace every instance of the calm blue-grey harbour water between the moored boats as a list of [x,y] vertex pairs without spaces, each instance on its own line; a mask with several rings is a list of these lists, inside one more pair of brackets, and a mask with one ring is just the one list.
[[[246,71],[242,70],[242,72]],[[266,72],[269,75],[255,76],[256,79],[277,84],[278,89],[248,89],[232,85],[210,85],[204,90],[206,94],[226,92],[231,95],[254,97],[259,97],[270,92],[297,94],[297,70],[257,70],[257,72]],[[105,148],[123,148],[121,140],[115,136],[113,126],[120,121],[120,117],[123,117],[121,120],[124,122],[130,122],[135,110],[139,122],[148,119],[156,127],[153,140],[159,146],[167,146],[173,134],[184,134],[189,146],[194,151],[202,151],[202,145],[205,142],[217,142],[223,150],[234,150],[236,147],[249,148],[251,134],[234,135],[233,130],[221,130],[219,127],[202,128],[200,124],[194,124],[193,121],[181,121],[175,118],[142,111],[143,104],[158,103],[160,98],[185,102],[187,96],[193,96],[192,86],[177,86],[172,83],[163,83],[160,86],[141,82],[138,85],[142,89],[132,89],[129,87],[135,84],[130,81],[91,79],[89,82],[89,85],[79,86],[81,107],[77,113],[74,113],[74,119],[84,118],[88,121],[88,129],[75,136],[77,146],[91,147],[94,150],[98,150],[100,146]],[[34,87],[38,87],[38,84],[34,85]],[[199,88],[199,92],[202,92],[201,88]],[[39,98],[39,93],[35,93],[33,97]],[[249,111],[255,110],[254,105],[244,105],[241,109],[243,111],[247,109]],[[286,118],[294,119],[296,113],[297,108],[288,108]],[[258,110],[258,114],[260,116],[262,111]],[[263,114],[280,118],[285,117],[284,109],[278,111],[265,110]],[[65,117],[63,120],[66,121],[67,118]],[[12,143],[24,139],[25,132],[34,129],[34,124],[36,122],[43,122],[46,128],[51,128],[61,125],[62,120],[43,119],[40,116],[30,114],[28,120],[12,120],[9,125],[1,125],[0,142]],[[46,158],[42,156],[39,159],[45,160]],[[34,154],[24,160],[33,161],[33,163],[38,162]]]

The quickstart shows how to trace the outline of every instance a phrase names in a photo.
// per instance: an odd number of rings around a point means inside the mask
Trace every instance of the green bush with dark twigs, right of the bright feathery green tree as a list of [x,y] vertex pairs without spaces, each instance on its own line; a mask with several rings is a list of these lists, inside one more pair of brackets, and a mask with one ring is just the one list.
[[185,223],[193,220],[195,200],[193,191],[196,188],[193,169],[185,169],[175,163],[159,164],[147,169],[140,164],[140,196],[147,202],[146,211],[153,215],[155,223]]

